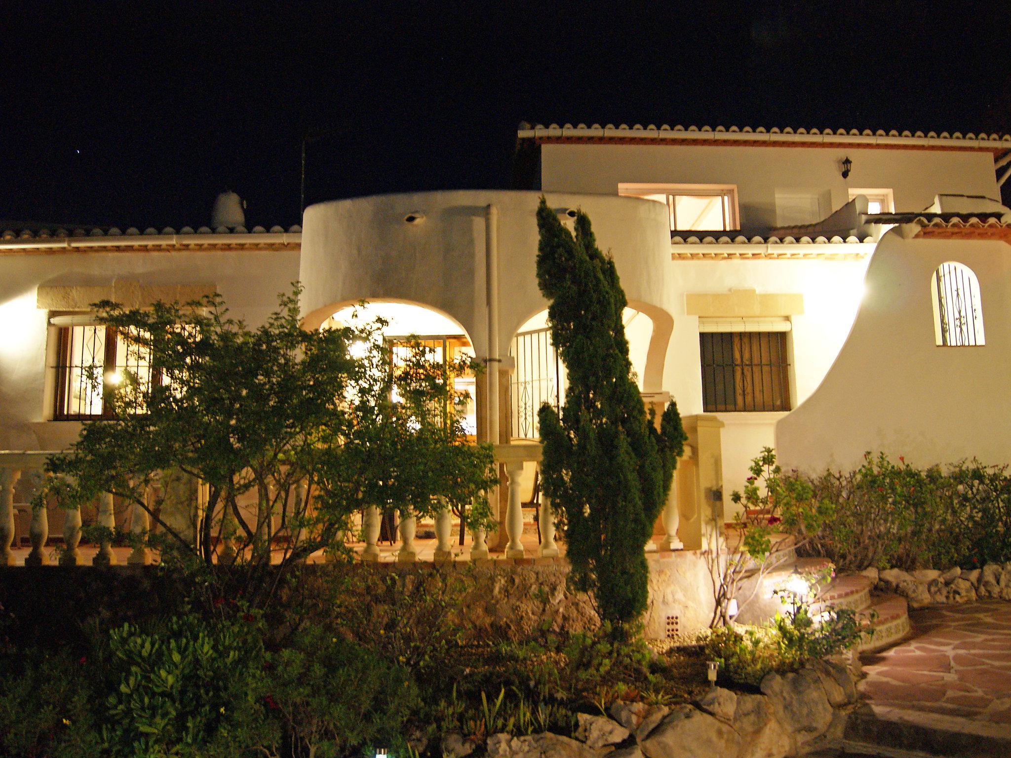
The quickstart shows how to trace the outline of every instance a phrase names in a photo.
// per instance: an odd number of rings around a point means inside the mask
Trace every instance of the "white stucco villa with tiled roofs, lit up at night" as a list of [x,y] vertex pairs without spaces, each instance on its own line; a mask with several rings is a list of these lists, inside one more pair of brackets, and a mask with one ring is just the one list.
[[[644,401],[675,399],[685,418],[661,549],[700,548],[765,445],[810,469],[871,449],[1011,463],[1009,162],[996,134],[522,124],[512,191],[325,202],[288,229],[223,207],[198,228],[0,229],[0,450],[60,450],[101,416],[82,369],[122,357],[90,303],[216,291],[256,322],[297,279],[307,328],[366,299],[390,337],[488,362],[464,385],[472,433],[513,480],[489,544],[523,555],[536,409],[565,382],[535,278],[543,194],[563,221],[589,215],[628,296]],[[29,458],[5,459],[8,513]]]

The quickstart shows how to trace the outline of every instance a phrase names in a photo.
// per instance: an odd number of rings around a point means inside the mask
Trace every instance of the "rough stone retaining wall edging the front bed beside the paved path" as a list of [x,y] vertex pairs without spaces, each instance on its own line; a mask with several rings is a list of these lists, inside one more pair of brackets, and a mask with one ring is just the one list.
[[[497,734],[486,747],[488,758],[784,758],[838,744],[855,703],[852,672],[841,660],[818,661],[768,674],[760,694],[714,687],[670,707],[618,701],[610,719],[580,714],[577,739]],[[451,735],[443,755],[462,758],[474,747]]]

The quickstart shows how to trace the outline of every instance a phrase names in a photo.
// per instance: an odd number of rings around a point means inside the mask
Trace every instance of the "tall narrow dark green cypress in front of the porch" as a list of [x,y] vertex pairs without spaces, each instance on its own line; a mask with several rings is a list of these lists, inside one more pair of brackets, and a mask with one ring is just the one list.
[[576,214],[573,236],[542,198],[537,224],[537,280],[568,372],[561,417],[550,405],[540,409],[544,491],[557,508],[575,586],[620,627],[646,608],[643,548],[686,438],[674,403],[659,430],[646,414],[631,378],[625,292],[589,218]]

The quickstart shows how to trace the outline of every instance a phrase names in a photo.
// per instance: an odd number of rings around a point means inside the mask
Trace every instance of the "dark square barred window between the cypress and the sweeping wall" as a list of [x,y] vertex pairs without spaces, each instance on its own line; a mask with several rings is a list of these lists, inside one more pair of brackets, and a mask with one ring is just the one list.
[[785,331],[703,331],[699,343],[704,410],[790,410]]

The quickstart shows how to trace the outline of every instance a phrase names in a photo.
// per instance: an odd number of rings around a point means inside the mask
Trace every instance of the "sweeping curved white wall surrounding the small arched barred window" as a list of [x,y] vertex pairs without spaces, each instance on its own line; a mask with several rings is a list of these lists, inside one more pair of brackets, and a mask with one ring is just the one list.
[[[865,451],[913,465],[1011,463],[1011,248],[998,238],[886,234],[849,337],[817,390],[776,424],[784,467],[852,469]],[[931,278],[943,263],[980,282],[986,345],[935,343]]]

